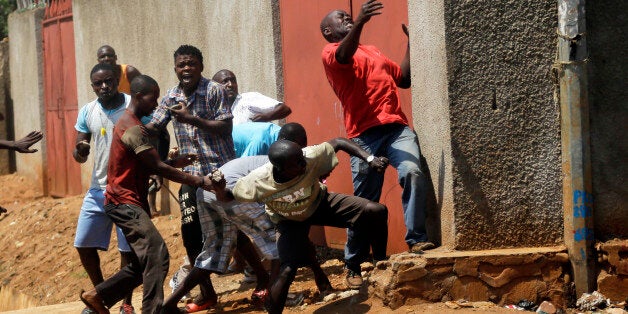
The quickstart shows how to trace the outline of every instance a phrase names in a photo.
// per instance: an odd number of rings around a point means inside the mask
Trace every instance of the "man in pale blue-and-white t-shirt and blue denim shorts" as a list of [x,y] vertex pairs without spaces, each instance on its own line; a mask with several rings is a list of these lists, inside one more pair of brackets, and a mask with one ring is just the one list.
[[[76,226],[74,247],[79,253],[83,268],[94,286],[104,281],[100,269],[98,250],[109,248],[113,222],[105,214],[105,187],[107,185],[107,166],[109,149],[113,136],[113,126],[129,105],[131,97],[118,92],[118,79],[110,64],[101,63],[92,68],[90,73],[92,89],[98,98],[83,106],[78,114],[76,125],[76,145],[72,156],[79,163],[87,161],[93,139],[94,168],[89,190],[83,199],[81,212]],[[120,251],[120,267],[128,264],[133,258],[131,247],[127,243],[120,228],[116,227],[118,250]],[[124,313],[132,313],[131,295],[122,305]],[[95,313],[86,308],[82,313]]]

